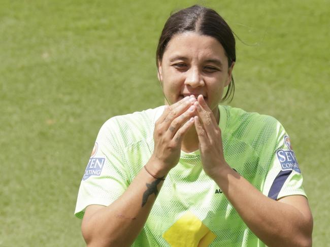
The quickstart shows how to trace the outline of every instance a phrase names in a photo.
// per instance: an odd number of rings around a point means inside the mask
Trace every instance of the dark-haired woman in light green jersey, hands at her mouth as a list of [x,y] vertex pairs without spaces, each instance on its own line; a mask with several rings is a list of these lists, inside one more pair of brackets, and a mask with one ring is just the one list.
[[166,106],[111,118],[97,136],[75,212],[87,245],[311,246],[284,128],[219,105],[234,92],[227,23],[204,7],[181,10],[156,58]]

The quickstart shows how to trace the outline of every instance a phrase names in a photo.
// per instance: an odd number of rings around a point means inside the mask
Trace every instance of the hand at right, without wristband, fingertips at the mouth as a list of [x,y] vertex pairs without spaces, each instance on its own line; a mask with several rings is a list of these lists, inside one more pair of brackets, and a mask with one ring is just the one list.
[[223,156],[221,130],[203,95],[197,97],[194,106],[197,112],[194,124],[199,138],[203,168],[205,173],[213,178],[219,170],[228,167]]

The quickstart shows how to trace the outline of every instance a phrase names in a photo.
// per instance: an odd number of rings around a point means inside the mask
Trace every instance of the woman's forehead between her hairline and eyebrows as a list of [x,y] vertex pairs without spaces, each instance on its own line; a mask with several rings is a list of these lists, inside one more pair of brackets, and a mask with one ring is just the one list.
[[163,59],[178,56],[188,59],[227,59],[222,45],[215,38],[197,32],[184,32],[172,37],[166,47]]

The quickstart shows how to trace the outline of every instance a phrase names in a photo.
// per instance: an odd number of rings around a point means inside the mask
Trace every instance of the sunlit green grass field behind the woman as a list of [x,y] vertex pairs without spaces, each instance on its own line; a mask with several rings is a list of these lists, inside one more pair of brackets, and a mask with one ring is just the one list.
[[0,0],[0,246],[84,246],[73,213],[98,129],[162,104],[157,39],[172,10],[195,3],[247,44],[237,40],[230,104],[285,126],[314,246],[330,246],[328,0]]

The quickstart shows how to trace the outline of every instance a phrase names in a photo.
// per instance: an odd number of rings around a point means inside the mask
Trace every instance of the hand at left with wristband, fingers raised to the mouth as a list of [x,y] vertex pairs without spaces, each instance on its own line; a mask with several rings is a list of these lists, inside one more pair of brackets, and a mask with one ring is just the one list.
[[158,177],[165,176],[180,159],[181,143],[184,134],[193,125],[195,97],[185,97],[166,106],[155,123],[154,151],[150,158],[153,167],[148,167]]

